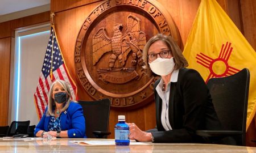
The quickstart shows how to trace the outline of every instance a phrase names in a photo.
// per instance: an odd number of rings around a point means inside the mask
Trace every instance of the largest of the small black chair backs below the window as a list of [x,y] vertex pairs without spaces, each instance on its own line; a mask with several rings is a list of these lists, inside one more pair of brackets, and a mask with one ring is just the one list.
[[11,137],[15,134],[27,134],[30,121],[13,121],[11,122],[7,136]]

